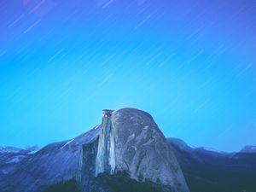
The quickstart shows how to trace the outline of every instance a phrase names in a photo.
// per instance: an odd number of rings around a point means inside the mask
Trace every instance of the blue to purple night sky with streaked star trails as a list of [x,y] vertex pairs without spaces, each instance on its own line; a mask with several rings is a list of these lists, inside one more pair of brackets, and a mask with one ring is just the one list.
[[0,0],[0,146],[127,107],[194,147],[256,145],[255,34],[253,0]]

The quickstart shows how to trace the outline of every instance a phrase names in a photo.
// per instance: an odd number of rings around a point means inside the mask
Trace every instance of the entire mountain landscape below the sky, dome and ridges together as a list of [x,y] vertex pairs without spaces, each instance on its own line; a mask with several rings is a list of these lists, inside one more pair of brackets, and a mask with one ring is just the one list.
[[256,151],[191,148],[165,138],[150,114],[105,110],[72,140],[0,148],[1,192],[255,192]]

